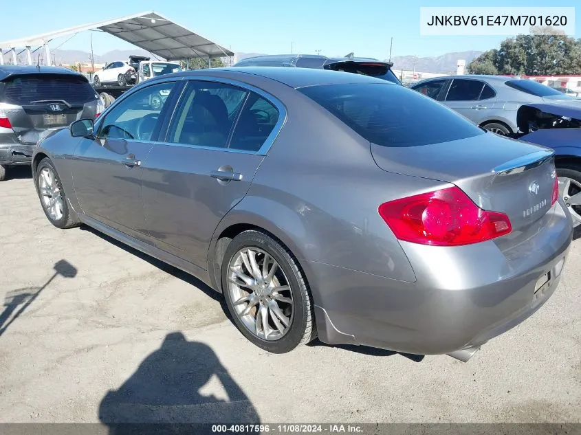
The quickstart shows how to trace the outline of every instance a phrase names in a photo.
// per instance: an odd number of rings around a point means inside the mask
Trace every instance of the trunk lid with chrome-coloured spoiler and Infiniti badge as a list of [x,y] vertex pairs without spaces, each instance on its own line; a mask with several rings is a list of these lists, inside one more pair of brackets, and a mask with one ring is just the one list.
[[507,214],[513,230],[551,208],[556,172],[549,148],[486,133],[421,146],[371,144],[371,153],[388,172],[453,183],[480,208]]

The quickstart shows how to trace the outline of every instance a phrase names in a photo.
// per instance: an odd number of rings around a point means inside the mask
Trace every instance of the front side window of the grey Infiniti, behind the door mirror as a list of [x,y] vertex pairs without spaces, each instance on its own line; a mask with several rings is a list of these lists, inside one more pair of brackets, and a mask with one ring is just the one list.
[[175,82],[159,83],[131,94],[105,115],[99,137],[150,140]]

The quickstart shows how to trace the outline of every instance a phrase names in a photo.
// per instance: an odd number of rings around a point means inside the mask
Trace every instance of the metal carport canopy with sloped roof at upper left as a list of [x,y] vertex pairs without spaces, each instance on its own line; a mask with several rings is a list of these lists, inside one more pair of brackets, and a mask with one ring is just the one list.
[[99,29],[132,43],[151,54],[166,60],[193,57],[217,58],[234,56],[230,50],[174,23],[157,12],[142,12],[120,19],[101,21],[30,36],[14,41],[1,42],[0,47],[36,47],[54,38]]

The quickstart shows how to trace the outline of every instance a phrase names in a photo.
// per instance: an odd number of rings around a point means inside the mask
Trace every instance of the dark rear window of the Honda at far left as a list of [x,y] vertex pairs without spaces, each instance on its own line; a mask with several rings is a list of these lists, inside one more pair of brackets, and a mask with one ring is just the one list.
[[97,95],[87,80],[76,76],[19,76],[4,82],[2,100],[19,106],[40,100],[64,100],[69,104],[85,104]]

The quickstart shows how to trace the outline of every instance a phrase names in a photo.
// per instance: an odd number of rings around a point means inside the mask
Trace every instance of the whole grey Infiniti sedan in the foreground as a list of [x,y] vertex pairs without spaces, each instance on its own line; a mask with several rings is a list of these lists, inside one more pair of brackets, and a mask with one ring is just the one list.
[[324,69],[152,78],[32,168],[53,225],[197,276],[273,353],[318,336],[465,361],[547,301],[573,231],[552,150]]

